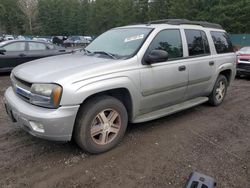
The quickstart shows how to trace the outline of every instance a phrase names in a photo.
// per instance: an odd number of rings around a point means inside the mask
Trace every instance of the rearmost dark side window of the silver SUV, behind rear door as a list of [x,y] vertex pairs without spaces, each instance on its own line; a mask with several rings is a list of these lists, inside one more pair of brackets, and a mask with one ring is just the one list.
[[233,52],[233,45],[225,32],[211,31],[215,49],[218,54]]

